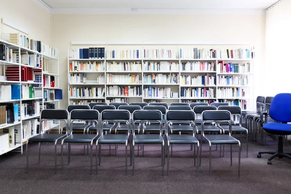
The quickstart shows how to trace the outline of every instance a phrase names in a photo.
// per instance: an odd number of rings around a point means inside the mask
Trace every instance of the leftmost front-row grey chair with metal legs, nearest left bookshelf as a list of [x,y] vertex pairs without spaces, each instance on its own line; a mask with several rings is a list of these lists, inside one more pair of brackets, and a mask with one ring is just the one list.
[[[57,141],[61,138],[67,136],[68,131],[66,130],[65,134],[63,133],[44,133],[42,128],[42,123],[45,120],[59,120],[65,121],[66,126],[68,125],[69,113],[67,110],[53,110],[45,109],[40,113],[40,124],[39,124],[39,134],[28,138],[26,141],[26,170],[28,173],[28,143],[37,142],[38,143],[38,164],[40,164],[40,147],[41,143],[54,143],[55,146],[55,174],[57,174]],[[68,129],[68,127],[66,127]]]

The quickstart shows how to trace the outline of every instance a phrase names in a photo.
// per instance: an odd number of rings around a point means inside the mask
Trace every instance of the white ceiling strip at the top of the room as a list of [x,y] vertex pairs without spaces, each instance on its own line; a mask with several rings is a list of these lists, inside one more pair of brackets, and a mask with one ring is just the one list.
[[52,9],[266,9],[278,0],[42,0]]

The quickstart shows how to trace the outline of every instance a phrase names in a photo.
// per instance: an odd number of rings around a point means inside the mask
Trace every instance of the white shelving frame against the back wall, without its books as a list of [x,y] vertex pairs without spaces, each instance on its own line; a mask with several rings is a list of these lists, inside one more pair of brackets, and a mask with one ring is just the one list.
[[[215,43],[216,44],[216,43]],[[247,43],[242,43],[240,44],[239,42],[235,43],[235,44],[219,44],[219,45],[215,45],[215,44],[205,44],[206,48],[207,47],[212,47],[212,48],[216,48],[217,49],[226,49],[230,47],[230,49],[239,49],[239,48],[244,48],[244,49],[250,49],[250,45]],[[88,100],[88,103],[91,102],[89,100],[101,100],[101,101],[105,101],[105,102],[109,102],[108,100],[113,99],[113,98],[124,98],[127,99],[127,102],[144,102],[144,101],[150,101],[150,100],[158,100],[158,101],[164,101],[167,103],[171,103],[171,102],[182,102],[184,100],[192,100],[197,101],[197,100],[212,100],[212,101],[233,101],[233,100],[246,100],[246,105],[247,105],[247,110],[253,110],[254,109],[254,87],[253,87],[253,78],[250,78],[253,76],[253,66],[254,66],[254,59],[250,58],[203,58],[203,59],[194,59],[194,58],[181,58],[180,57],[180,49],[182,48],[204,48],[205,45],[203,44],[203,46],[201,46],[202,44],[199,43],[197,45],[195,45],[193,43],[192,44],[175,44],[173,42],[170,43],[162,43],[162,42],[124,42],[124,43],[114,43],[114,42],[84,42],[84,44],[82,45],[82,42],[71,42],[71,49],[76,51],[77,48],[96,48],[96,47],[101,47],[101,48],[105,48],[105,58],[104,59],[74,59],[74,58],[70,58],[70,50],[68,50],[68,55],[67,55],[67,60],[68,60],[68,69],[69,69],[69,64],[72,61],[77,61],[77,62],[91,62],[91,61],[96,61],[98,63],[103,62],[105,64],[105,69],[104,71],[100,71],[100,72],[87,72],[87,71],[79,71],[79,72],[72,72],[72,71],[68,71],[68,75],[70,76],[70,74],[74,74],[74,73],[87,73],[87,74],[103,74],[105,76],[105,80],[106,80],[106,76],[107,74],[112,74],[112,75],[132,75],[132,74],[138,74],[141,76],[140,80],[141,82],[139,83],[102,83],[102,86],[104,86],[106,88],[106,93],[105,93],[105,97],[96,97],[96,98],[76,98],[76,97],[68,97],[69,101],[72,100]],[[111,51],[111,50],[127,50],[127,49],[132,49],[132,50],[140,50],[142,51],[141,53],[139,53],[139,58],[116,58],[113,59],[111,58],[110,55],[108,55],[107,51]],[[173,50],[174,53],[174,57],[172,58],[146,58],[143,56],[143,50],[144,49],[171,49]],[[177,54],[178,53],[178,54]],[[251,53],[251,50],[250,50]],[[177,54],[177,55],[176,55]],[[115,54],[116,56],[116,54]],[[176,57],[175,57],[176,56]],[[248,63],[250,65],[250,71],[246,72],[246,73],[233,73],[233,72],[223,72],[221,73],[219,71],[219,62],[223,61],[224,64],[225,63],[233,63],[233,64],[245,64]],[[123,71],[122,69],[119,71],[113,71],[113,70],[109,70],[107,63],[113,63],[116,62],[116,64],[118,65],[119,63],[139,63],[142,64],[142,70],[141,71]],[[145,62],[172,62],[172,63],[177,63],[178,64],[178,70],[146,70],[144,67],[144,63]],[[214,69],[213,70],[192,70],[192,71],[185,71],[182,70],[182,63],[187,63],[187,62],[193,62],[193,63],[198,63],[198,62],[203,62],[203,63],[214,63]],[[111,67],[112,68],[112,67]],[[172,67],[173,68],[173,67]],[[118,69],[118,67],[117,67]],[[146,83],[144,81],[144,75],[152,75],[152,74],[164,74],[164,75],[171,75],[171,74],[178,74],[179,76],[179,82],[178,83]],[[205,74],[209,74],[210,76],[215,76],[216,77],[216,84],[214,85],[201,85],[201,84],[194,84],[194,85],[184,85],[181,83],[181,76],[191,76],[191,78],[193,77],[197,77],[197,76],[203,76]],[[247,80],[248,83],[247,84],[218,84],[218,76],[247,76]],[[69,81],[69,77],[68,77],[68,81]],[[75,86],[77,84],[68,84],[68,88]],[[85,85],[93,85],[93,84],[79,84],[78,87],[81,86],[85,86]],[[144,93],[144,88],[151,86],[153,87],[159,87],[159,88],[171,88],[171,92],[178,92],[178,97],[145,97],[144,94],[142,94],[142,96],[112,96],[112,95],[108,95],[107,93],[107,87],[108,86],[114,86],[114,85],[120,85],[120,86],[142,86],[142,93]],[[184,88],[190,88],[190,89],[197,89],[197,88],[206,88],[208,89],[213,89],[214,90],[214,97],[181,97],[181,89]],[[239,89],[243,89],[243,91],[245,91],[245,97],[241,97],[241,95],[239,97],[232,97],[232,96],[223,96],[223,97],[217,97],[217,91],[219,89],[223,89],[223,88],[239,88]],[[248,95],[246,95],[248,94]],[[190,102],[190,101],[189,101]]]

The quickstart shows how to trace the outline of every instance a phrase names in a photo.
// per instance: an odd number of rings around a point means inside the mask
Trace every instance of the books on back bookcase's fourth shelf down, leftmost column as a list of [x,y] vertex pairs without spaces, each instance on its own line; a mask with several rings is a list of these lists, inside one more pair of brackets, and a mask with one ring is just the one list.
[[70,88],[70,97],[105,97],[105,88],[96,87],[81,87],[81,88]]

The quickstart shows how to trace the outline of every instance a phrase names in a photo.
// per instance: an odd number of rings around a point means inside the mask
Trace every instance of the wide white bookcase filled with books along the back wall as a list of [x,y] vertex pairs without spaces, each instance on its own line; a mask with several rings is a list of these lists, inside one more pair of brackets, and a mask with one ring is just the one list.
[[[99,47],[105,48],[103,59],[76,58],[78,48]],[[198,59],[194,58],[194,48],[204,49],[203,55],[202,50],[200,50],[201,54]],[[236,50],[240,48],[249,49],[249,55],[245,57],[241,53],[241,56],[236,57],[240,54]],[[153,51],[153,49],[158,50]],[[220,52],[222,53],[221,56],[217,55],[216,58],[212,58],[204,54],[210,49],[213,49],[213,52],[214,49],[217,49],[217,52],[218,49],[223,51]],[[231,55],[227,56],[225,49],[229,49],[229,55],[230,50],[233,50],[231,54],[235,55],[234,58],[231,58]],[[137,50],[139,52],[138,56]],[[254,55],[249,43],[72,42],[67,57],[69,104],[86,104],[93,101],[112,102],[114,100],[126,102],[162,101],[169,104],[171,102],[210,103],[227,101],[231,105],[240,105],[242,110],[254,109]],[[105,83],[98,84],[105,88],[104,96],[93,98],[86,96],[70,97],[72,93],[70,88],[74,86],[70,77],[72,74],[82,72],[79,70],[71,72],[70,65],[72,69],[74,63],[82,62],[105,64],[104,69],[99,72],[90,72],[90,74],[88,72],[87,78],[90,78],[90,81],[79,85],[79,88],[86,85],[92,85],[93,87],[92,83],[97,80],[98,75],[102,74],[105,76]],[[91,75],[91,73],[94,75]],[[128,82],[126,82],[127,78],[123,76],[131,78],[132,75],[133,78],[138,76],[138,80],[133,82],[127,80]],[[202,79],[204,80],[203,84]],[[113,87],[115,93],[111,92]],[[141,87],[141,92],[133,95],[129,94],[129,87],[131,89]],[[119,93],[116,93],[116,88],[119,89]],[[147,88],[160,89],[158,93],[155,93],[159,95],[149,96],[146,93]]]

